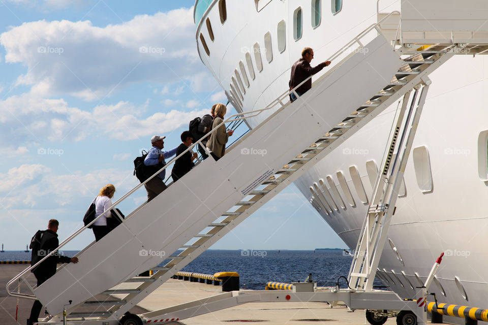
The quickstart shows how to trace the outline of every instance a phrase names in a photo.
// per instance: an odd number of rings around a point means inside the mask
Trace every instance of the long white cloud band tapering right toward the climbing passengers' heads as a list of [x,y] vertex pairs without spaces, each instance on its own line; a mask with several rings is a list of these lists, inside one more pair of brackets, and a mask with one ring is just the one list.
[[42,99],[29,93],[11,96],[0,101],[0,137],[9,139],[0,144],[0,151],[26,150],[19,148],[26,144],[46,148],[46,142],[80,141],[89,135],[133,140],[169,133],[204,112],[172,109],[141,118],[148,104],[118,102],[98,105],[89,112],[69,107],[63,99]]

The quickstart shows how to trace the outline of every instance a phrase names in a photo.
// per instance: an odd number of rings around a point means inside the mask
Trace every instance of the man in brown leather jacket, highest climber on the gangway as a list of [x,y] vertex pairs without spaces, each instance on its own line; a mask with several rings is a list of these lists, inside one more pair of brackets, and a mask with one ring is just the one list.
[[[290,82],[288,85],[290,86],[290,90],[298,86],[303,80],[307,79],[308,77],[315,75],[320,70],[324,69],[330,64],[330,61],[325,61],[320,63],[317,67],[312,68],[310,66],[310,62],[314,58],[314,50],[310,47],[306,47],[301,51],[301,58],[293,64],[291,67],[291,77]],[[306,91],[312,88],[312,78],[307,80],[303,83],[300,87],[298,87],[295,92],[298,96],[301,96]],[[294,93],[290,94],[290,102],[296,101],[296,96]]]

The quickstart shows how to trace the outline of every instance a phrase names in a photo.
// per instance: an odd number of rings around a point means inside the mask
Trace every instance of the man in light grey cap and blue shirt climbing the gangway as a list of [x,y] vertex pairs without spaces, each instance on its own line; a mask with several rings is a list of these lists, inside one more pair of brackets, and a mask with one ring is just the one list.
[[[176,147],[169,151],[163,151],[162,149],[164,148],[164,138],[166,137],[153,136],[153,138],[151,138],[151,144],[153,145],[153,148],[149,150],[146,158],[144,159],[144,165],[152,171],[151,175],[163,168],[166,165],[166,160],[164,159],[174,156],[174,154],[176,153],[176,149],[178,149],[178,147]],[[153,177],[151,180],[144,184],[144,187],[147,191],[147,202],[156,198],[158,194],[160,194],[167,188],[166,184],[164,183],[165,176],[166,170],[162,171],[158,174],[158,176]]]

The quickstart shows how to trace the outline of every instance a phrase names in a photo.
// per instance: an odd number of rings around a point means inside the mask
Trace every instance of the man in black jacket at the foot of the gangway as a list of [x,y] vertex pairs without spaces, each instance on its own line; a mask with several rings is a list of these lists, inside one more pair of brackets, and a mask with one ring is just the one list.
[[[49,220],[47,230],[41,235],[40,246],[37,251],[32,252],[32,262],[31,265],[35,265],[47,254],[59,246],[59,240],[57,239],[57,228],[59,226],[59,221],[56,219]],[[58,263],[78,263],[78,257],[68,257],[59,255],[55,252],[53,255],[49,256],[42,262],[39,266],[31,270],[37,279],[37,286],[40,286],[47,279],[56,273],[56,266]],[[38,322],[39,313],[41,312],[42,304],[39,300],[36,300],[32,305],[31,317],[27,319],[27,325],[32,325]]]

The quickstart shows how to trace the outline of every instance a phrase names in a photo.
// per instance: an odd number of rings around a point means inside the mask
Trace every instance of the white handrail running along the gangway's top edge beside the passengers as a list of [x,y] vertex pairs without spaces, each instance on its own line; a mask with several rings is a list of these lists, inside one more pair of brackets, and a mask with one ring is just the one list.
[[[350,42],[348,42],[345,46],[343,46],[340,50],[338,50],[337,52],[335,52],[334,54],[332,54],[332,56],[330,58],[327,59],[327,61],[332,61],[336,58],[338,58],[341,54],[343,54],[344,52],[346,52],[351,46],[353,46],[354,44],[358,44],[361,48],[364,47],[364,45],[360,42],[360,39],[363,38],[365,35],[369,34],[369,32],[371,32],[373,29],[376,29],[378,32],[381,32],[381,29],[379,27],[379,24],[385,20],[386,18],[388,18],[390,15],[392,14],[400,14],[399,11],[393,11],[391,13],[389,13],[386,17],[384,17],[382,20],[380,20],[379,22],[377,22],[376,24],[372,24],[370,25],[368,28],[366,28],[364,31],[362,31],[360,34],[358,34],[358,36],[356,36],[354,39],[352,39]],[[338,63],[337,66],[340,66],[345,60],[347,60],[348,57],[346,57],[345,59],[343,59],[341,62]],[[330,71],[329,71],[330,73]],[[323,77],[325,77],[327,74],[325,74]],[[225,125],[225,123],[227,122],[233,122],[233,121],[239,121],[239,120],[243,120],[243,119],[246,119],[246,118],[251,118],[251,117],[256,117],[258,115],[260,115],[261,113],[265,112],[265,111],[268,111],[268,110],[271,110],[273,108],[275,108],[276,105],[280,104],[280,107],[279,109],[281,108],[284,108],[285,106],[287,106],[289,104],[287,98],[288,96],[291,94],[291,93],[294,93],[296,98],[298,99],[299,96],[298,94],[296,93],[296,91],[294,89],[300,87],[302,84],[306,83],[308,80],[310,80],[312,78],[312,76],[310,76],[309,78],[303,80],[300,84],[298,84],[297,86],[295,86],[295,88],[293,88],[292,90],[287,90],[285,91],[284,93],[282,93],[280,96],[278,96],[278,98],[276,98],[274,101],[272,101],[270,104],[268,104],[265,108],[263,109],[259,109],[259,110],[254,110],[254,111],[249,111],[249,112],[242,112],[242,113],[237,113],[237,114],[233,114],[231,116],[229,116],[225,121],[223,121],[221,124],[219,124],[217,127],[215,127],[214,129],[212,129],[212,131],[210,131],[207,136],[211,135],[212,133],[216,132],[217,129],[221,126],[221,125]],[[321,78],[321,79],[322,79]],[[320,80],[321,80],[320,79]],[[317,80],[316,82],[320,81],[320,80]],[[314,84],[316,83],[314,82]],[[286,103],[283,103],[284,100],[287,100]],[[273,113],[272,115],[275,115],[279,112],[279,109]],[[271,116],[272,116],[271,115]],[[234,118],[235,117],[235,118]],[[261,127],[263,125],[265,121],[261,122],[257,127],[255,127],[254,129],[257,129],[259,127]],[[248,133],[245,137],[247,138],[252,132]],[[171,159],[170,161],[168,161],[168,163],[163,167],[161,168],[159,171],[157,171],[153,176],[149,177],[146,181],[138,184],[137,186],[135,186],[134,188],[132,188],[131,190],[129,190],[126,194],[124,194],[124,196],[122,196],[120,199],[118,199],[117,201],[115,201],[115,203],[113,203],[106,211],[110,211],[111,209],[114,209],[117,205],[119,205],[121,202],[123,202],[124,200],[126,200],[128,197],[130,197],[136,190],[138,190],[139,188],[141,188],[142,186],[144,186],[145,183],[147,183],[149,180],[153,179],[154,177],[158,177],[159,173],[161,173],[162,171],[166,170],[166,168],[168,168],[168,166],[172,165],[174,163],[174,161],[176,161],[176,159],[178,159],[179,157],[181,157],[182,155],[184,155],[185,153],[187,153],[188,151],[192,150],[195,146],[197,145],[200,145],[202,143],[202,141],[204,141],[206,139],[206,136],[201,138],[200,140],[198,140],[196,143],[192,144],[190,147],[188,147],[185,151],[183,151],[182,153],[180,153],[178,156],[174,157],[173,159]],[[243,139],[241,139],[242,141]],[[207,154],[209,156],[210,155],[210,152],[208,151],[208,149],[202,145],[202,147],[205,148],[205,151],[207,152]],[[209,159],[209,158],[208,158]],[[191,172],[191,171],[190,171]],[[138,208],[136,208],[137,210]],[[104,213],[106,212],[104,211]],[[33,268],[39,266],[42,262],[44,262],[46,260],[46,258],[48,258],[49,256],[52,256],[53,254],[55,254],[60,248],[62,248],[63,246],[65,246],[67,243],[69,243],[73,238],[75,238],[76,236],[78,236],[79,234],[81,234],[84,230],[86,230],[90,225],[92,225],[93,223],[95,223],[95,221],[97,221],[102,215],[104,215],[104,213],[102,213],[100,216],[98,216],[96,219],[94,219],[92,222],[88,223],[87,225],[83,226],[82,228],[78,229],[76,232],[74,232],[72,235],[70,235],[67,239],[65,239],[62,243],[59,244],[59,246],[54,249],[53,251],[51,251],[49,254],[47,254],[46,256],[44,256],[38,263],[36,263],[35,265],[31,266],[31,267],[28,267],[26,268],[24,271],[22,271],[21,273],[19,273],[17,276],[15,276],[12,280],[10,280],[7,285],[6,285],[6,289],[7,289],[7,293],[9,294],[9,296],[13,296],[13,297],[18,297],[18,298],[25,298],[25,299],[36,299],[36,296],[34,295],[27,295],[27,294],[17,294],[17,293],[14,293],[12,291],[10,291],[10,286],[15,283],[18,279],[20,279],[22,276],[24,276],[26,273],[30,272]],[[118,215],[118,213],[117,213]],[[119,216],[119,215],[118,215]],[[119,216],[120,217],[120,216]],[[129,217],[129,216],[128,216]],[[122,220],[122,224],[124,224],[124,219],[121,219]],[[78,253],[79,254],[79,253]],[[77,254],[77,255],[78,255]]]

